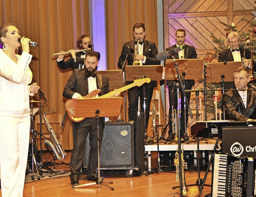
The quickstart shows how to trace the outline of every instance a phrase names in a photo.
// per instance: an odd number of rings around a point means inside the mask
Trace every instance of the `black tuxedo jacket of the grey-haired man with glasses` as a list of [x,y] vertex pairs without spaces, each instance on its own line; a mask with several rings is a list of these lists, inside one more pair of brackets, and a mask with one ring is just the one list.
[[[251,59],[251,52],[249,49],[245,49],[245,52],[244,52],[244,48],[239,47],[239,51],[240,51],[241,58],[244,57],[246,59]],[[218,62],[224,62],[224,61],[234,61],[234,57],[232,55],[231,49],[220,51],[218,56]],[[253,70],[256,71],[255,61],[253,61]]]

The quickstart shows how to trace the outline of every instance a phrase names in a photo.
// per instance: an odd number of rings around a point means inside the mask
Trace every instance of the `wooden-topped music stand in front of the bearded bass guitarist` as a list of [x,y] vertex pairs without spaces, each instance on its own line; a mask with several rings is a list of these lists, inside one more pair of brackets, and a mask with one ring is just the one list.
[[[122,97],[111,97],[106,99],[78,99],[76,103],[76,111],[74,114],[74,118],[92,118],[95,117],[97,119],[98,125],[98,179],[95,183],[87,183],[83,185],[75,185],[72,188],[88,186],[88,185],[96,185],[98,187],[100,185],[104,185],[109,187],[106,184],[103,184],[103,178],[100,177],[100,138],[99,138],[99,117],[105,116],[118,116],[122,104]],[[89,106],[89,107],[88,107]],[[96,115],[95,115],[96,114]],[[112,184],[113,182],[108,182]],[[113,187],[109,187],[111,190],[114,190]]]

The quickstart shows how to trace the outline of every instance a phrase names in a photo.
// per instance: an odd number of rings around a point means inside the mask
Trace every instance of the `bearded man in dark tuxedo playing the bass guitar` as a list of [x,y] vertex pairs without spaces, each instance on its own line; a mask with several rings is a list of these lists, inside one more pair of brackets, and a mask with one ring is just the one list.
[[[75,69],[70,76],[66,87],[63,90],[63,97],[68,99],[83,99],[88,93],[95,89],[101,89],[99,97],[109,92],[108,77],[96,73],[100,53],[88,51],[84,60],[85,69]],[[117,96],[117,95],[115,95]],[[71,185],[78,185],[82,162],[84,158],[86,138],[90,133],[90,155],[87,168],[87,180],[97,181],[96,169],[98,166],[98,131],[97,120],[95,118],[85,118],[81,122],[74,122],[74,148],[70,160],[70,180]],[[102,142],[104,130],[104,117],[99,118],[99,139]]]

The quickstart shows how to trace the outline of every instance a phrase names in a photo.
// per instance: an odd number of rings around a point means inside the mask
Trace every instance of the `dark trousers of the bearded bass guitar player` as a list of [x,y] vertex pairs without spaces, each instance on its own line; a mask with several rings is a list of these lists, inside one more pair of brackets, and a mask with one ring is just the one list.
[[[86,146],[86,138],[89,135],[90,141],[90,154],[87,168],[87,178],[96,175],[98,167],[98,127],[97,120],[95,118],[85,118],[81,122],[75,122],[75,144],[71,154],[70,160],[70,179],[79,179],[80,171],[82,169],[82,163],[84,158],[84,151]],[[99,118],[99,138],[100,146],[102,142],[102,136],[104,131],[104,118]]]

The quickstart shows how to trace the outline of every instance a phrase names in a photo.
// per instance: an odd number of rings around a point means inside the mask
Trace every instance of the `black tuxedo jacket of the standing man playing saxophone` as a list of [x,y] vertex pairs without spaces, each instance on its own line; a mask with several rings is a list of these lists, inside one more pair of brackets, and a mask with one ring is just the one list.
[[[122,68],[122,66],[124,64],[124,60],[126,58],[126,54],[129,51],[127,45],[129,45],[129,47],[134,49],[134,51],[135,51],[135,40],[131,40],[129,42],[124,43],[121,55],[118,60],[119,68]],[[160,65],[161,61],[156,59],[157,54],[158,54],[158,50],[156,48],[156,43],[144,39],[143,40],[143,55],[146,56],[146,61],[142,65]],[[132,65],[133,61],[134,61],[134,53],[130,52],[127,57],[127,63],[128,63],[127,65]],[[145,73],[145,75],[146,74],[147,73]],[[140,77],[140,76],[134,76],[134,77]],[[132,82],[128,82],[127,84],[130,84],[130,83],[132,83]],[[150,83],[146,83],[145,87],[157,87],[157,83],[156,83],[156,81],[151,81]]]

